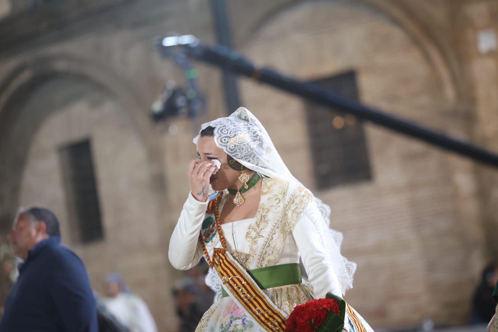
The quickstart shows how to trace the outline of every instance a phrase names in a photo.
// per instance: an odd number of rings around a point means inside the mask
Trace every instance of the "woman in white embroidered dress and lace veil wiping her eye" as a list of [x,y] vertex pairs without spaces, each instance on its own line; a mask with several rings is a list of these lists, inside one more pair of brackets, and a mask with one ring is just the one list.
[[[187,270],[204,256],[211,267],[217,296],[196,331],[285,331],[296,305],[342,298],[356,264],[340,253],[330,208],[292,176],[249,110],[203,124],[194,143],[200,158],[169,260]],[[373,331],[347,308],[344,330]]]

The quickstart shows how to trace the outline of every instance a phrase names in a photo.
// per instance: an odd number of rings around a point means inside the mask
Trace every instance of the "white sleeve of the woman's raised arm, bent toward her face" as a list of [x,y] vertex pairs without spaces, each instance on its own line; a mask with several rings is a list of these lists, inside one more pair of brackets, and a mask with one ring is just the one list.
[[189,193],[169,241],[168,257],[177,270],[188,270],[204,255],[199,234],[208,202],[200,202]]

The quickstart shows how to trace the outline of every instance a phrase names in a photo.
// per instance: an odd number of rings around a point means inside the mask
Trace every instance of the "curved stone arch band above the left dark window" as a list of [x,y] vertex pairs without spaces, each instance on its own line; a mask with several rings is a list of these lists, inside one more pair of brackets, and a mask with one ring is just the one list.
[[[162,150],[156,131],[148,119],[148,105],[128,81],[108,67],[82,57],[68,54],[47,54],[17,63],[3,76],[0,82],[0,180],[5,183],[0,192],[0,212],[8,220],[18,205],[19,184],[22,169],[33,133],[15,132],[11,127],[17,110],[26,101],[26,96],[43,84],[57,79],[68,79],[82,85],[93,86],[119,102],[122,110],[131,119],[139,138],[146,148],[154,186],[158,198],[164,199],[165,187],[161,162]],[[50,115],[33,114],[36,129]],[[16,139],[22,137],[22,139]],[[15,144],[15,147],[13,146]],[[11,220],[11,219],[10,219]]]

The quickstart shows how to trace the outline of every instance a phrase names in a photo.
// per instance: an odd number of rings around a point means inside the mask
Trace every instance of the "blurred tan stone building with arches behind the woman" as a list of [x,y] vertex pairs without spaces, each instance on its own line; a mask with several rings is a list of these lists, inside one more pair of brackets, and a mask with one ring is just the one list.
[[[498,152],[497,1],[227,2],[234,47],[257,64]],[[164,82],[184,80],[151,41],[214,42],[210,2],[2,0],[0,15],[1,238],[18,206],[53,209],[94,288],[121,272],[174,331],[181,273],[167,248],[196,133],[188,119],[150,120]],[[195,122],[225,116],[220,71],[195,66],[208,106]],[[332,208],[358,263],[346,300],[373,327],[466,324],[498,256],[497,171],[239,83],[290,170]]]

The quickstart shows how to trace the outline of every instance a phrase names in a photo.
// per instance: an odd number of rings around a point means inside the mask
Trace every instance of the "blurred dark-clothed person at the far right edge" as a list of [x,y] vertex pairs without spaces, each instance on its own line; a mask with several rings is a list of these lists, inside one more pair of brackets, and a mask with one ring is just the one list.
[[488,324],[495,315],[497,304],[493,300],[493,291],[497,281],[498,266],[490,264],[484,269],[481,282],[474,291],[471,324]]

